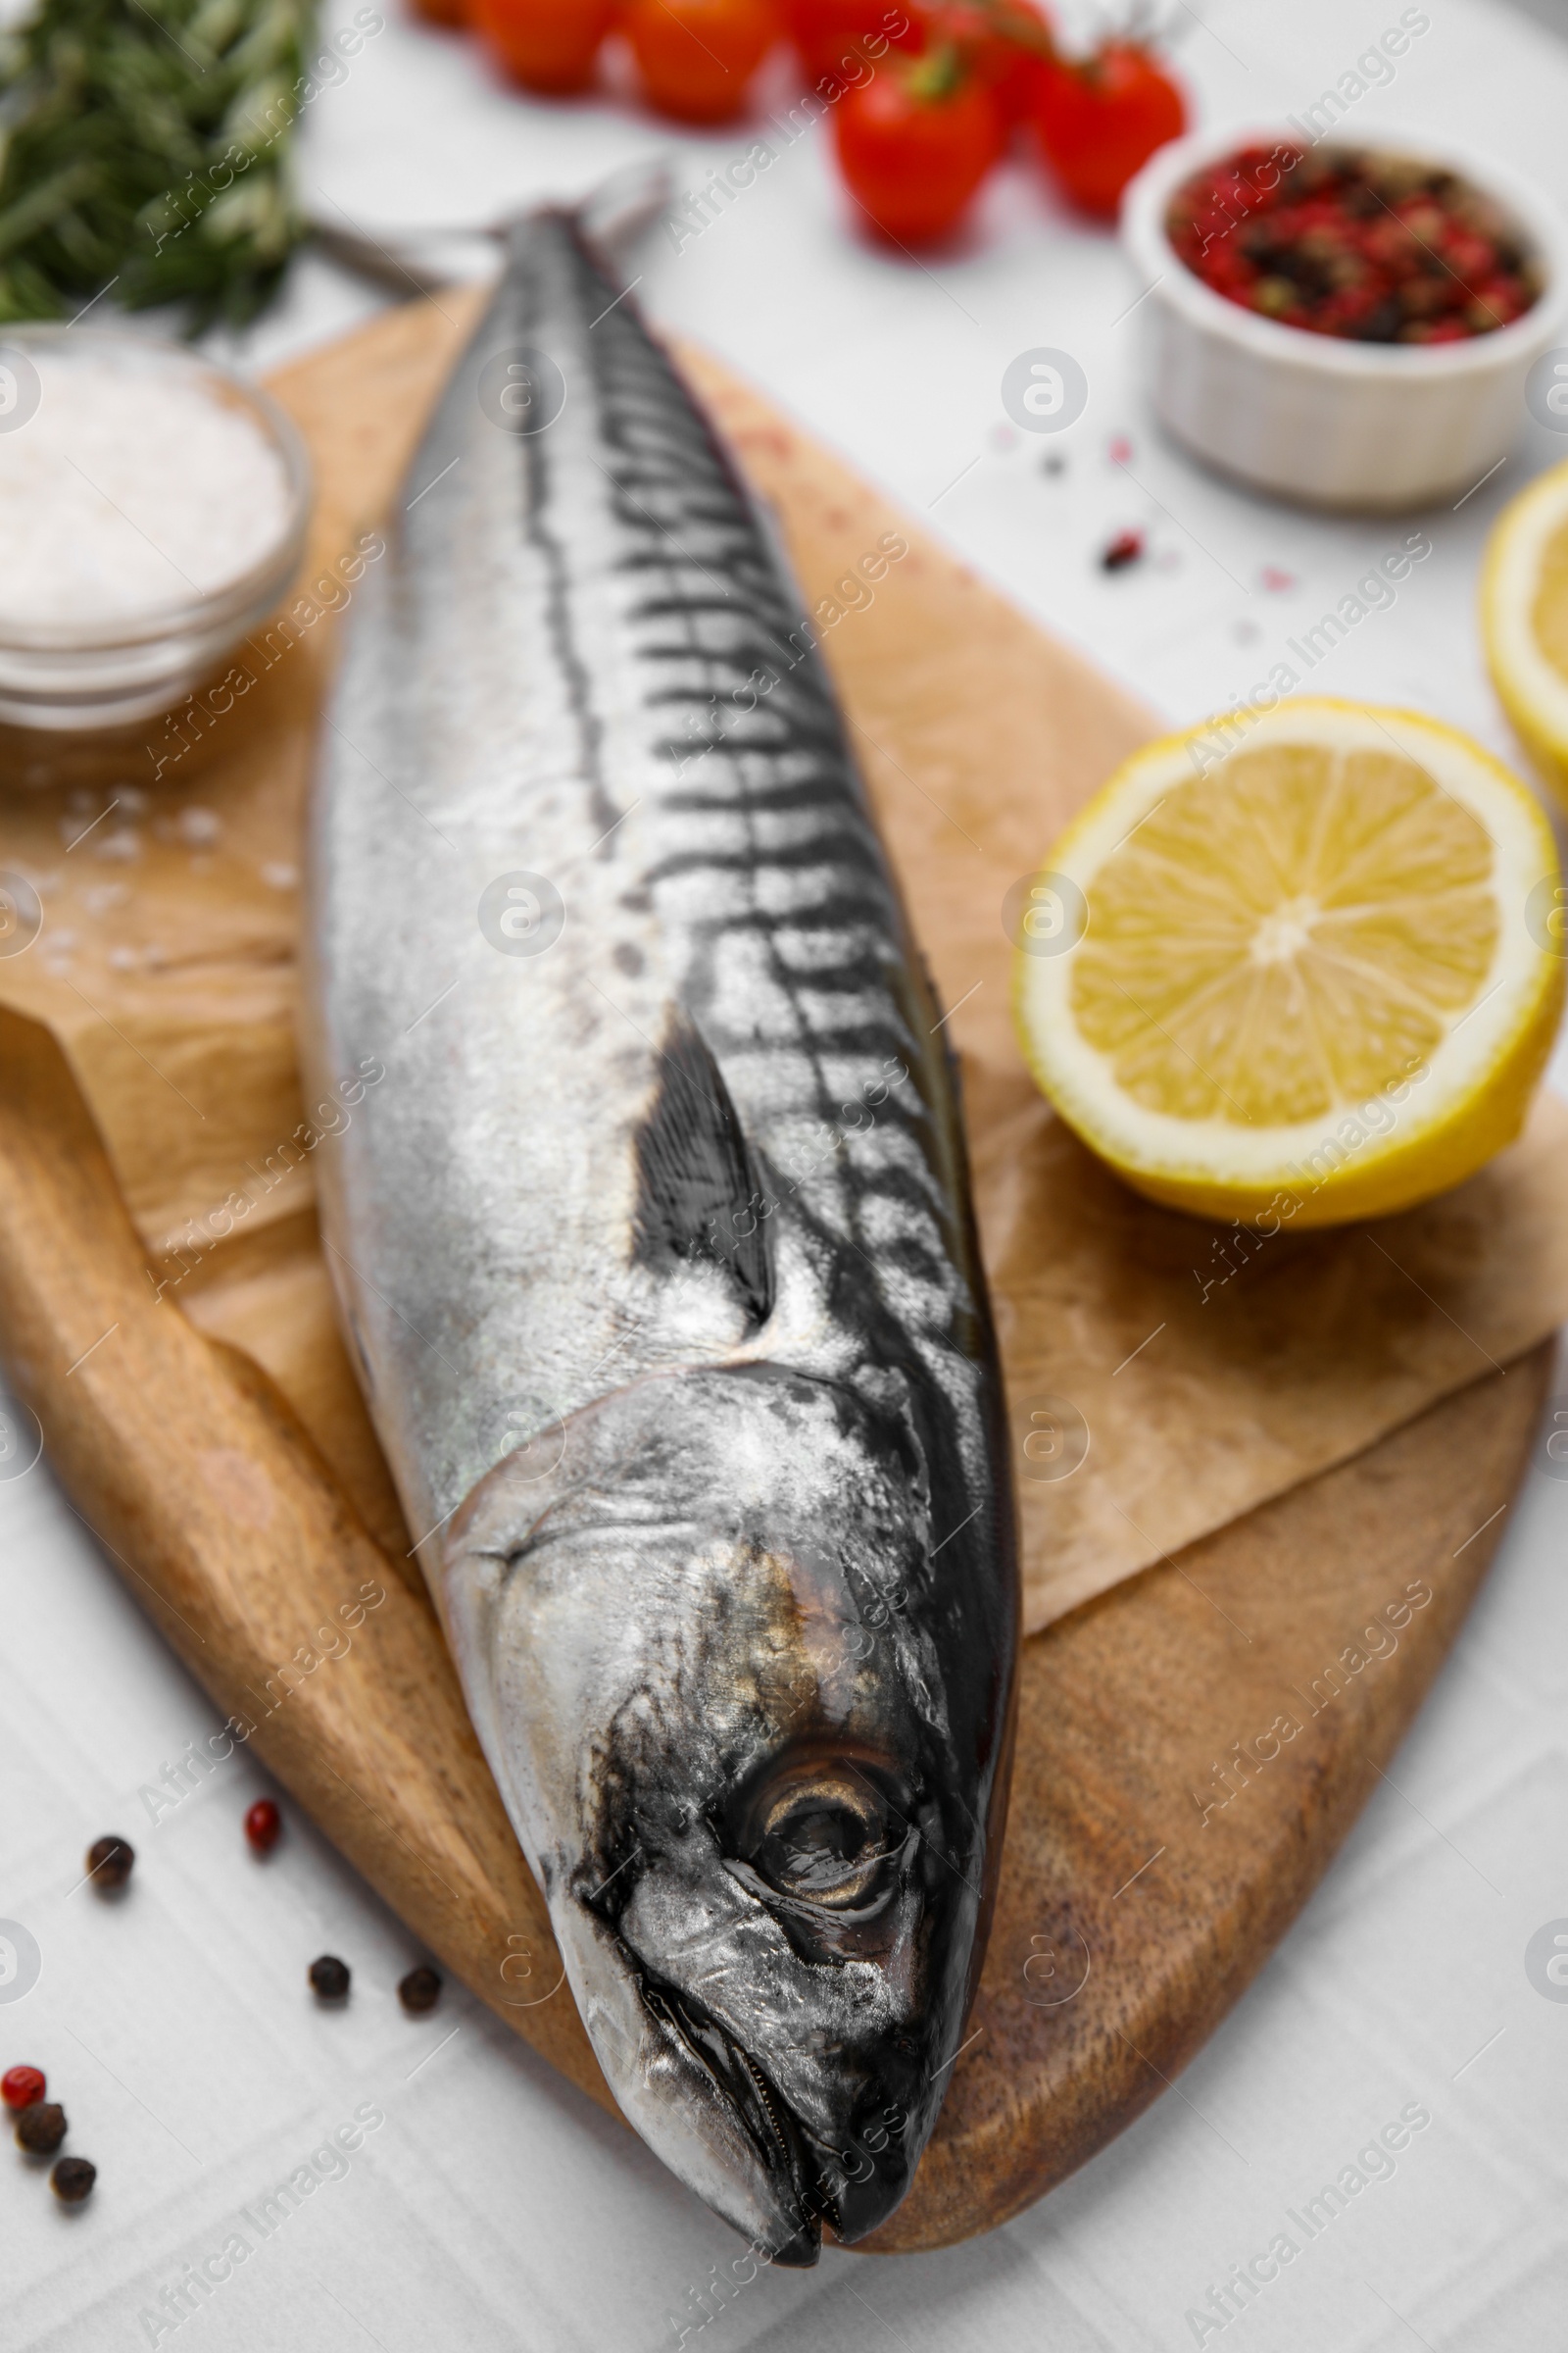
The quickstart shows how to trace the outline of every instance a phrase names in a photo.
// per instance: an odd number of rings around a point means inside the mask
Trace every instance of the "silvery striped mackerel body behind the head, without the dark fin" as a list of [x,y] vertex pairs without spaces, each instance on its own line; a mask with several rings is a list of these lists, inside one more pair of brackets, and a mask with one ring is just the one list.
[[[517,231],[353,614],[317,793],[313,1068],[388,1068],[327,1235],[416,1534],[529,1421],[682,1362],[872,1391],[905,1362],[985,1475],[936,1012],[766,529],[611,292],[564,216]],[[567,381],[534,435],[480,398],[515,346]],[[480,932],[508,871],[567,904],[543,955]],[[635,1252],[677,1016],[759,1162],[736,1202],[773,1224],[757,1334],[722,1254]]]

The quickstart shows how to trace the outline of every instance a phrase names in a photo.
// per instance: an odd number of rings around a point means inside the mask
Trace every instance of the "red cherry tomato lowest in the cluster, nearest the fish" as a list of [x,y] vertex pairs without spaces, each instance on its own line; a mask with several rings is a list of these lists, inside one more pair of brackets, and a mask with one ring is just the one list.
[[884,64],[839,99],[832,129],[849,193],[896,245],[947,235],[1004,139],[994,96],[950,49]]

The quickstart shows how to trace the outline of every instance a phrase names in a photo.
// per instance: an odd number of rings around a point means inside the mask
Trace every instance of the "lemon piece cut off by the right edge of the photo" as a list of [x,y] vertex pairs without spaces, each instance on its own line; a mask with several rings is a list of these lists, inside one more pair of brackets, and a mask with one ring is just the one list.
[[1530,760],[1568,802],[1568,464],[1530,482],[1493,525],[1481,638]]

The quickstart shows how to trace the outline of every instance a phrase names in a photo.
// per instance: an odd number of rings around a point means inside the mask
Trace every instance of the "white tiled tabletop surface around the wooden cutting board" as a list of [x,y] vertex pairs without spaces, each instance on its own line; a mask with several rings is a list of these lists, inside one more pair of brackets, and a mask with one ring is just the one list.
[[[1204,120],[1267,120],[1309,104],[1396,16],[1399,0],[1211,0],[1204,24],[1178,7],[1180,64]],[[1568,47],[1481,0],[1429,0],[1429,16],[1366,120],[1375,106],[1493,148],[1568,202]],[[400,16],[308,111],[303,174],[329,219],[480,221],[654,148],[698,186],[741,144],[672,136],[611,104],[522,104],[465,45]],[[1067,221],[1025,172],[994,184],[969,252],[917,268],[846,233],[809,136],[684,252],[649,245],[642,268],[656,320],[769,386],[1173,720],[1260,678],[1420,522],[1432,560],[1314,687],[1413,704],[1514,755],[1472,621],[1476,555],[1502,501],[1568,442],[1530,426],[1458,513],[1413,522],[1319,522],[1227,489],[1150,428],[1114,240]],[[371,308],[306,259],[240,355],[268,365]],[[1013,433],[999,405],[1004,365],[1041,344],[1072,351],[1091,384],[1060,440]],[[1065,471],[1046,473],[1056,456]],[[1107,576],[1098,555],[1126,525],[1147,529],[1150,555]],[[1568,1915],[1568,1482],[1542,1464],[1392,1779],[1178,2094],[1004,2231],[762,2273],[686,2346],[1173,2353],[1197,2341],[1187,2313],[1208,2287],[1410,2101],[1432,2125],[1396,2172],[1222,2341],[1568,2344],[1568,2002],[1523,1967],[1533,1932]],[[672,2348],[670,2313],[696,2322],[691,2289],[736,2252],[724,2226],[461,1988],[428,2021],[404,2019],[393,1986],[418,1955],[331,1849],[292,1814],[270,1864],[247,1854],[240,1817],[266,1788],[252,1762],[146,1819],[141,1786],[216,1718],[47,1464],[0,1482],[0,1913],[42,1951],[33,1991],[0,2002],[0,2066],[45,2066],[71,2146],[99,2162],[92,2202],[68,2214],[0,2151],[0,2348]],[[75,1885],[108,1828],[141,1849],[122,1904]],[[320,1951],[355,1967],[343,2014],[306,1993]],[[242,2209],[362,2104],[386,2122],[343,2177],[270,2238],[244,2228]],[[174,2325],[160,2294],[235,2228],[254,2252]]]

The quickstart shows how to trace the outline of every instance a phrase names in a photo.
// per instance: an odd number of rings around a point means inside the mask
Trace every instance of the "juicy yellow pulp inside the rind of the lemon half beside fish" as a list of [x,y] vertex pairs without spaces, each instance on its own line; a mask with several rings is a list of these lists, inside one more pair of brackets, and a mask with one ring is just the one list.
[[1173,1118],[1281,1127],[1359,1101],[1479,993],[1490,852],[1413,760],[1239,753],[1098,871],[1079,1031]]

